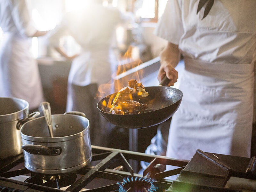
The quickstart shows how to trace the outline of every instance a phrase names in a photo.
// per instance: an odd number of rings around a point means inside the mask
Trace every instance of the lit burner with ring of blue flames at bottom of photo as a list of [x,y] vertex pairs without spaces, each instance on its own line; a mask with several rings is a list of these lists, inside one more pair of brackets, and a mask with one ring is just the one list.
[[156,192],[157,187],[154,186],[155,180],[145,177],[127,177],[123,182],[118,182],[119,192]]

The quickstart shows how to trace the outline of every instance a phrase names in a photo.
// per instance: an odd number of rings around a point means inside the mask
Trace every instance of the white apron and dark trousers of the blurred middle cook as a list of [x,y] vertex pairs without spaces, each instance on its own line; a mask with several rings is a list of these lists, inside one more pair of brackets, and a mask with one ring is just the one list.
[[112,129],[110,123],[100,115],[97,109],[96,95],[99,85],[109,87],[109,92],[105,92],[106,95],[112,93],[109,83],[116,68],[115,63],[116,59],[108,49],[83,50],[72,61],[69,71],[66,111],[81,111],[86,114],[90,121],[92,145],[107,146],[108,140],[105,138]]

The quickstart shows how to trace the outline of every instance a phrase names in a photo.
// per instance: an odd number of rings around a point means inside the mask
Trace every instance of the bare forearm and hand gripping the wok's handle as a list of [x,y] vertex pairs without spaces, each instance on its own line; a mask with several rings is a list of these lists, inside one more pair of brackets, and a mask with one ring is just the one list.
[[161,66],[158,71],[157,79],[159,82],[167,76],[170,80],[167,86],[173,86],[178,80],[178,71],[175,67],[180,61],[179,46],[176,44],[168,43],[164,50],[160,53]]

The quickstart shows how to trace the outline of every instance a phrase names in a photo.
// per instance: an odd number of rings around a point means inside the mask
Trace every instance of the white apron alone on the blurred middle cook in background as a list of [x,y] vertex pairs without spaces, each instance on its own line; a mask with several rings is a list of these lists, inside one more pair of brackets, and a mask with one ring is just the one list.
[[[114,74],[117,64],[113,54],[114,53],[109,50],[108,47],[98,50],[82,50],[80,55],[72,61],[68,74],[67,112],[74,110],[72,84],[84,87],[90,84],[97,84],[97,86],[99,86],[110,83],[111,76]],[[108,92],[101,97],[112,93],[110,85],[107,91]],[[96,95],[94,95],[94,97],[96,97]],[[80,99],[81,101],[84,100],[84,98]]]

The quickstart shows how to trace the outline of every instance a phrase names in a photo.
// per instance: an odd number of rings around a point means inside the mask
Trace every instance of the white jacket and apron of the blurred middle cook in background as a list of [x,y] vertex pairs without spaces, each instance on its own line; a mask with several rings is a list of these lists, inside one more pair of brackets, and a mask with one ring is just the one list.
[[82,47],[69,71],[66,111],[72,110],[71,84],[107,84],[117,65],[111,46],[114,42],[115,26],[122,21],[122,14],[114,7],[91,2],[80,11],[65,15],[60,26],[53,30],[49,38],[50,45],[56,47],[62,36],[70,35]]

